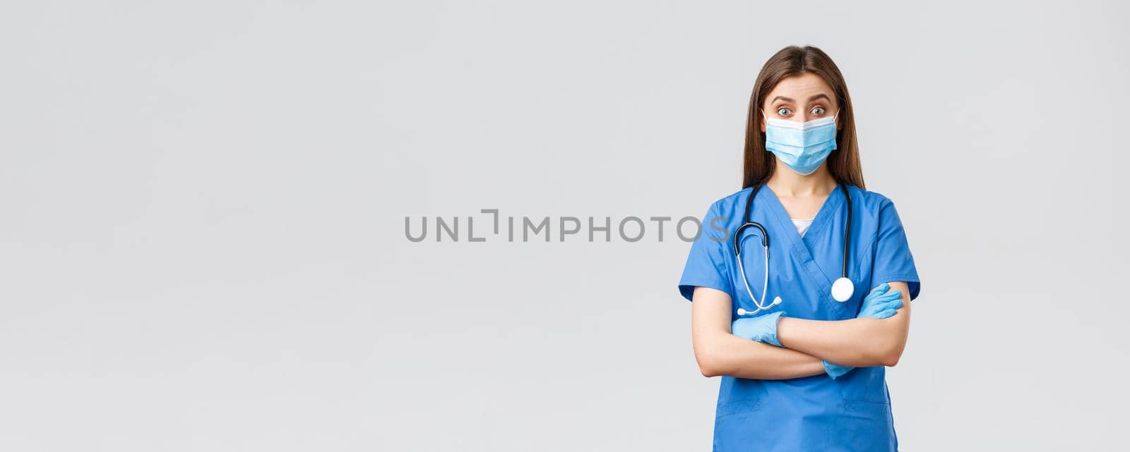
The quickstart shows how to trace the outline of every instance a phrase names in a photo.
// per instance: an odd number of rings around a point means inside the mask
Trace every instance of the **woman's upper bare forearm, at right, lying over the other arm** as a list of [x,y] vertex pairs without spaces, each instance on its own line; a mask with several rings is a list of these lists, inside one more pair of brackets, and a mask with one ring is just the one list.
[[[897,317],[897,316],[895,316]],[[793,351],[855,367],[895,365],[905,322],[889,319],[807,320],[781,317],[777,340]]]

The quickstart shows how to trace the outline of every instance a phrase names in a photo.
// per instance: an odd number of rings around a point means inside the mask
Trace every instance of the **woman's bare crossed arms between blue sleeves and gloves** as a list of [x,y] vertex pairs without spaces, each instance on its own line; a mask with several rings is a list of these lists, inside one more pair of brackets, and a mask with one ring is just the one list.
[[825,372],[820,360],[863,367],[898,363],[910,331],[910,287],[890,282],[903,307],[886,319],[806,320],[781,317],[777,340],[783,347],[730,334],[731,300],[725,292],[695,287],[690,303],[690,337],[695,360],[705,376],[783,380]]

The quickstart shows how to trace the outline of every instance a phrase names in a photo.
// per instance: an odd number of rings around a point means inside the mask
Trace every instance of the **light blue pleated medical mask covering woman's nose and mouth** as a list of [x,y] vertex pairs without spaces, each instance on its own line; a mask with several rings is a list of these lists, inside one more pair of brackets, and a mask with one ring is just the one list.
[[765,117],[765,150],[773,152],[797,174],[808,176],[836,149],[836,116],[806,123]]

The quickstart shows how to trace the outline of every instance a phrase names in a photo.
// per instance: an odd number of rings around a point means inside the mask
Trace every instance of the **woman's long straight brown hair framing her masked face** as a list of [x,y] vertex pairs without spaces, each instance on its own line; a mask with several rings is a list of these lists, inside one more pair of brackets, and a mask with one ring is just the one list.
[[824,79],[832,87],[840,104],[836,121],[843,124],[836,132],[836,150],[828,154],[828,172],[840,184],[851,184],[867,189],[863,185],[863,168],[859,162],[859,144],[855,142],[855,113],[851,107],[851,96],[847,83],[844,82],[840,68],[824,51],[807,45],[799,47],[790,45],[770,57],[762,67],[754,82],[754,91],[749,95],[749,122],[746,123],[746,162],[742,187],[764,184],[773,175],[776,159],[765,150],[765,136],[762,134],[762,103],[773,87],[782,79],[812,73]]

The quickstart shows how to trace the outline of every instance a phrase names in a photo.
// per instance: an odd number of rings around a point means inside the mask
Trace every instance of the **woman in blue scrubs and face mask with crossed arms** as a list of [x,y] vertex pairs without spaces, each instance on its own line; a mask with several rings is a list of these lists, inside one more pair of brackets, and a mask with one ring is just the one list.
[[819,48],[762,68],[744,186],[710,206],[679,282],[698,366],[722,375],[714,451],[896,451],[884,366],[921,284],[895,205],[863,186],[851,97]]

